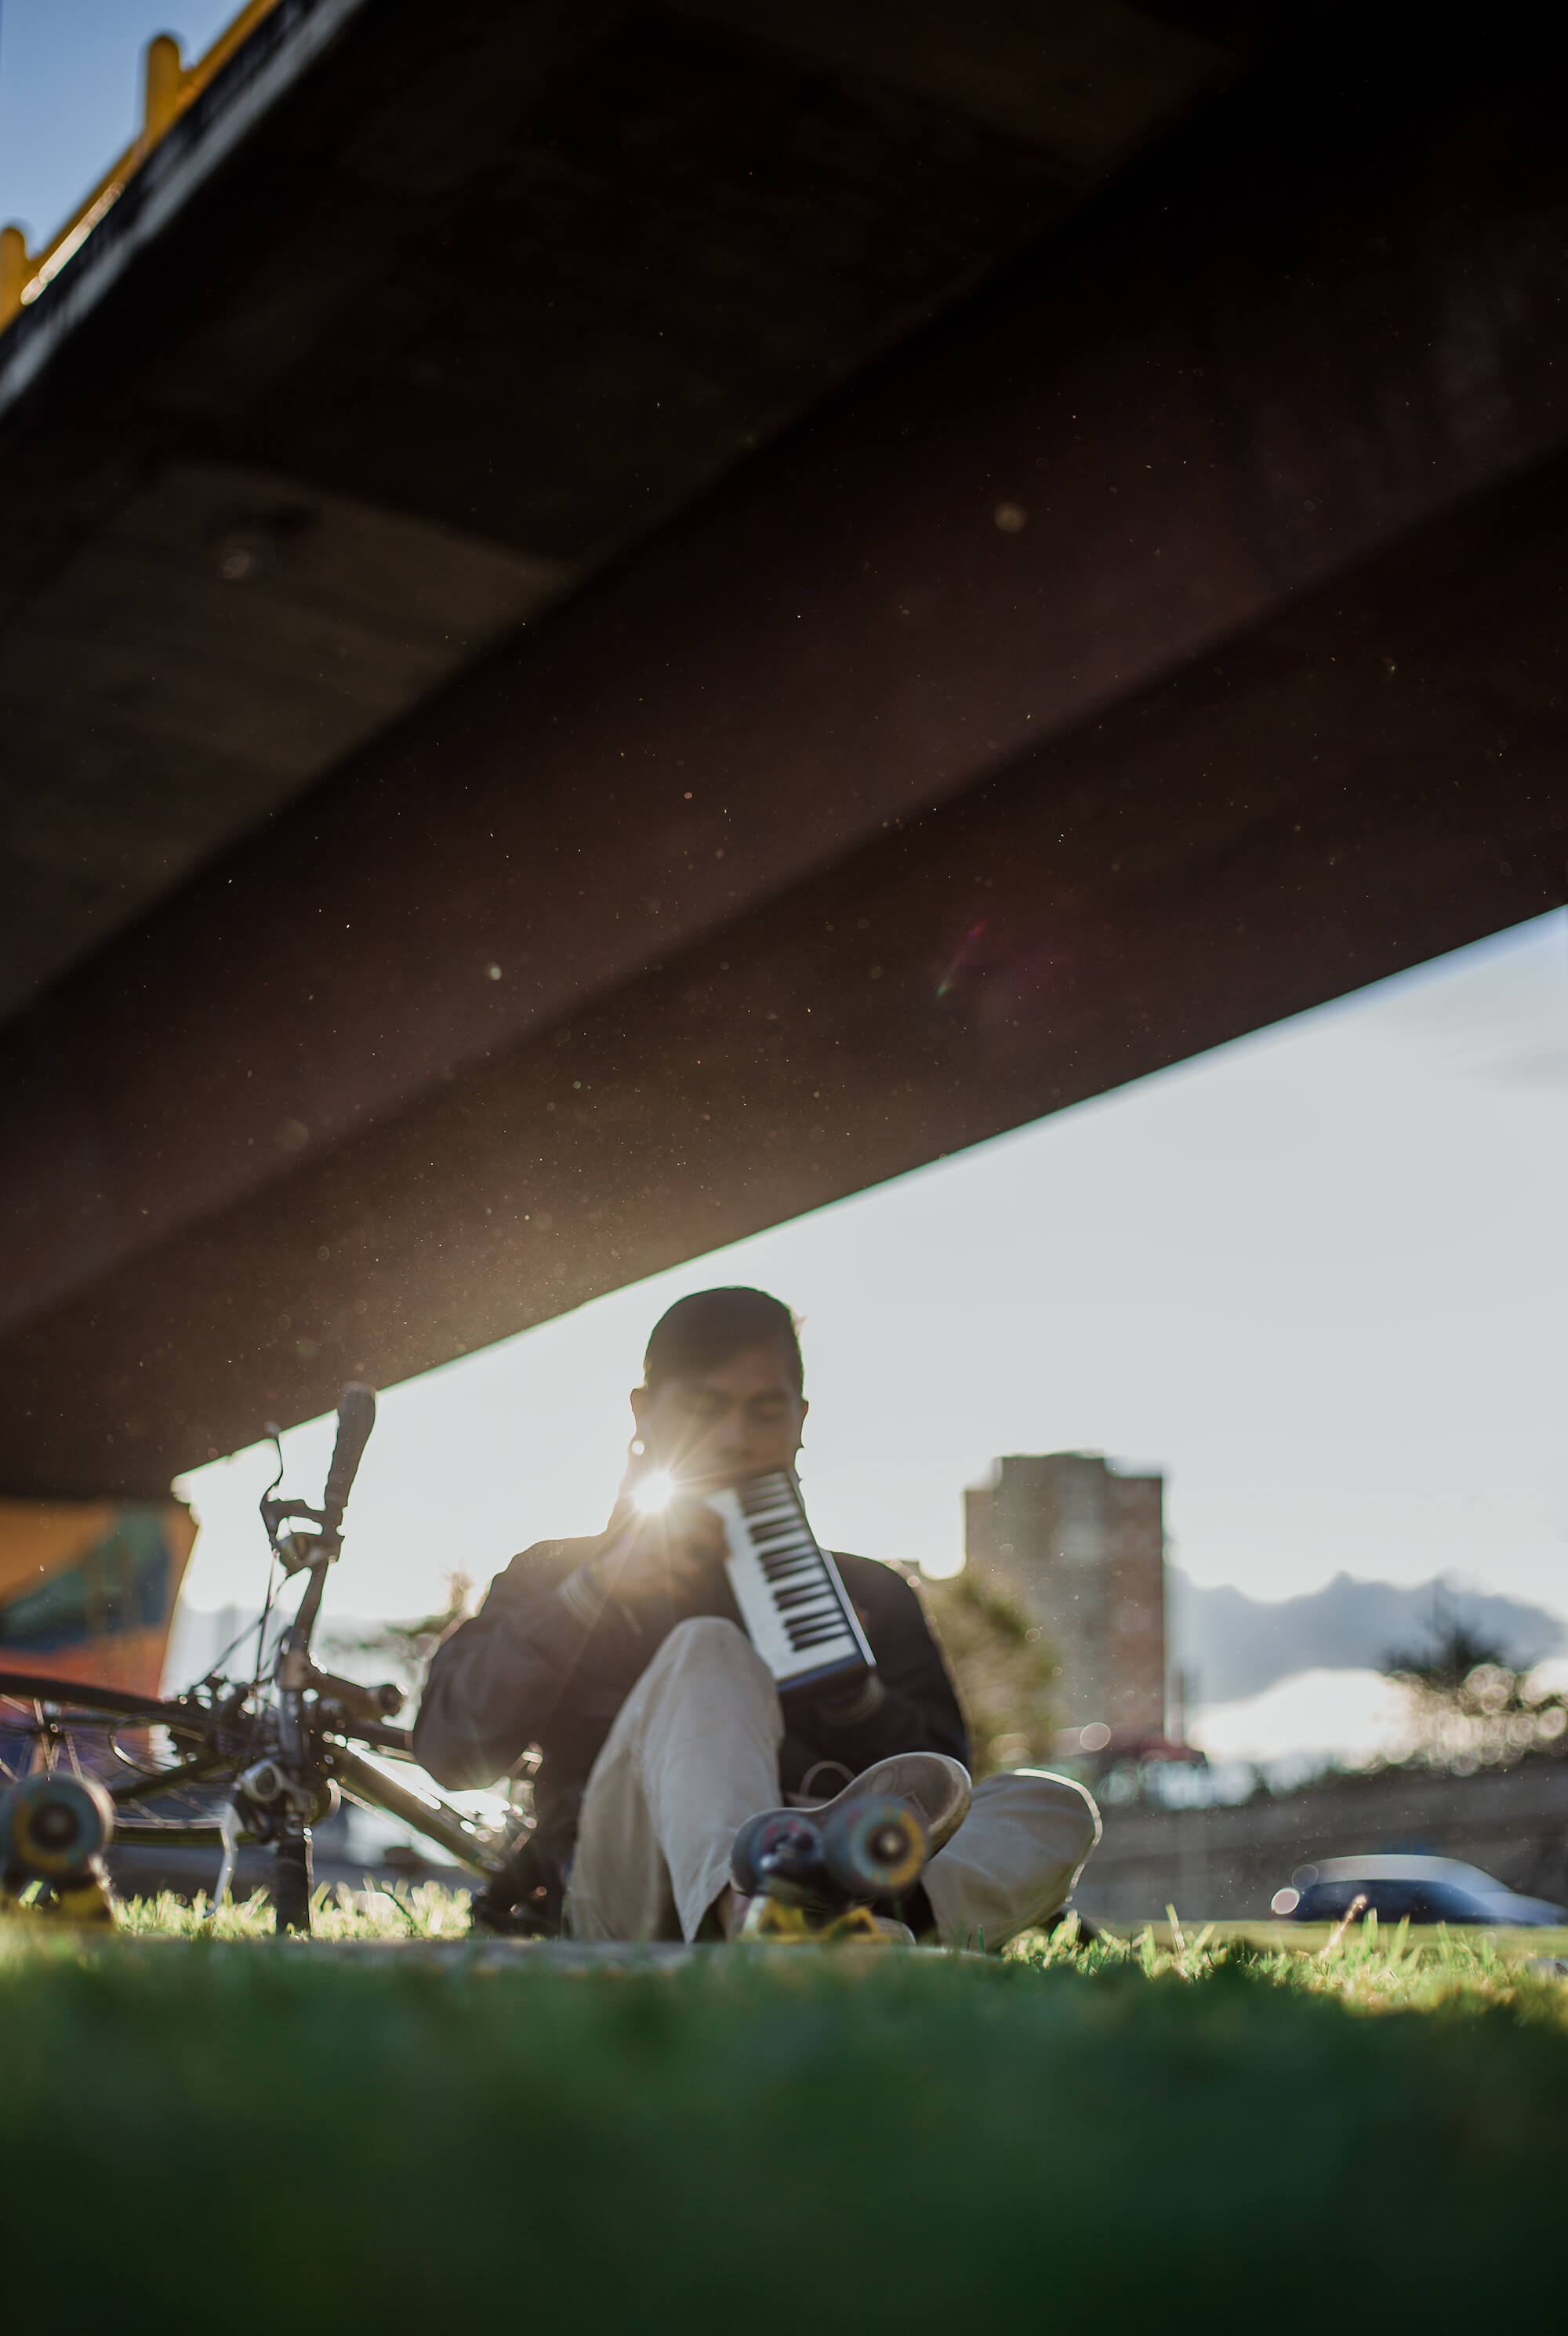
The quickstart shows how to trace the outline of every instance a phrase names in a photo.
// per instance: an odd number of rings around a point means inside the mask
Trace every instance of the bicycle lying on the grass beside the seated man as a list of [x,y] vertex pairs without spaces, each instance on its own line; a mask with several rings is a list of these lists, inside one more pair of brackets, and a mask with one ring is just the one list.
[[[0,1817],[0,1869],[9,1841],[12,1897],[19,1880],[33,1880],[47,1902],[72,1909],[112,1822],[124,1845],[210,1845],[220,1857],[213,1911],[229,1897],[238,1848],[271,1845],[276,1927],[308,1932],[311,1829],[339,1794],[446,1850],[486,1885],[481,1899],[521,1890],[528,1813],[514,1806],[502,1824],[481,1824],[400,1785],[376,1757],[411,1759],[409,1729],[393,1724],[402,1689],[360,1687],[311,1656],[327,1567],[341,1556],[344,1509],[376,1423],[374,1390],[344,1388],[337,1418],[320,1507],[278,1495],[283,1446],[269,1430],[278,1474],[262,1495],[262,1523],[273,1563],[262,1619],[236,1642],[255,1631],[252,1677],[234,1682],[215,1666],[185,1694],[159,1698],[0,1666],[0,1810],[12,1810],[9,1834]],[[297,1577],[304,1593],[269,1663],[273,1610]],[[220,1663],[231,1654],[224,1649]],[[56,1789],[40,1780],[56,1780]],[[0,1871],[0,1885],[5,1878]]]

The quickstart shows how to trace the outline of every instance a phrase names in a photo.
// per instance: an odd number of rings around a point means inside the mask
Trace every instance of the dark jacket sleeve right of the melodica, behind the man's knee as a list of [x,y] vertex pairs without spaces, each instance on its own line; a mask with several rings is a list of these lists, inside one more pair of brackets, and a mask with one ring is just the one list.
[[844,1586],[867,1614],[876,1670],[848,1696],[818,1696],[811,1736],[851,1768],[895,1752],[946,1752],[970,1761],[970,1731],[916,1591],[890,1565],[839,1558]]

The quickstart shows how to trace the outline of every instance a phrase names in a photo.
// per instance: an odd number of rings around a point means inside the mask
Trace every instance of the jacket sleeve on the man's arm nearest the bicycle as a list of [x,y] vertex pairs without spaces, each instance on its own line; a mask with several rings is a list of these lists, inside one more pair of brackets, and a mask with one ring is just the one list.
[[636,1624],[596,1588],[582,1560],[596,1542],[540,1542],[495,1574],[491,1591],[430,1659],[414,1722],[414,1757],[449,1789],[505,1775],[549,1736],[575,1680],[626,1684],[643,1668]]

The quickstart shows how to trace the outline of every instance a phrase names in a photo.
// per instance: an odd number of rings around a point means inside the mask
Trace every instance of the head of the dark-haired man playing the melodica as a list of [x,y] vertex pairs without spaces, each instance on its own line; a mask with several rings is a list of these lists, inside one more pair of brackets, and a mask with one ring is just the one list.
[[806,1425],[795,1315],[764,1289],[699,1289],[654,1325],[631,1411],[650,1469],[722,1486],[790,1467]]

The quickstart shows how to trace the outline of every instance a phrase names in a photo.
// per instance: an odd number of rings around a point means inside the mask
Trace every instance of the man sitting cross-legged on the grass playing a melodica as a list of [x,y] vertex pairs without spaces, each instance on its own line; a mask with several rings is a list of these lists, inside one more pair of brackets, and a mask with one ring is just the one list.
[[[414,1752],[479,1787],[542,1752],[530,1885],[577,1939],[734,1937],[729,1848],[780,1801],[897,1794],[932,1845],[900,1913],[949,1946],[1002,1946],[1066,1904],[1101,1822],[1061,1775],[970,1794],[965,1724],[914,1588],[839,1556],[876,1670],[846,1689],[776,1682],[741,1628],[706,1493],[788,1469],[806,1425],[795,1320],[762,1289],[680,1299],[647,1341],[636,1441],[610,1523],[540,1542],[430,1663]],[[671,1500],[643,1514],[654,1472]]]

